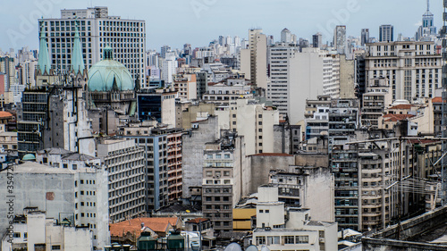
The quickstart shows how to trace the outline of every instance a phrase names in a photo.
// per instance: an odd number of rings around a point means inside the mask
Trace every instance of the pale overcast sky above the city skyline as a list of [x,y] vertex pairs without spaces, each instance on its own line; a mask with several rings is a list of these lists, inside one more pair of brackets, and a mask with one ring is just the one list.
[[[430,1],[438,29],[442,4]],[[0,0],[0,48],[37,49],[39,17],[60,17],[61,9],[90,6],[107,6],[110,15],[122,19],[145,20],[147,48],[159,50],[185,43],[207,46],[220,35],[247,38],[250,28],[262,28],[278,40],[283,28],[310,39],[318,31],[332,36],[335,24],[345,24],[350,36],[368,28],[377,37],[381,24],[392,24],[394,38],[399,33],[413,37],[426,0]]]

